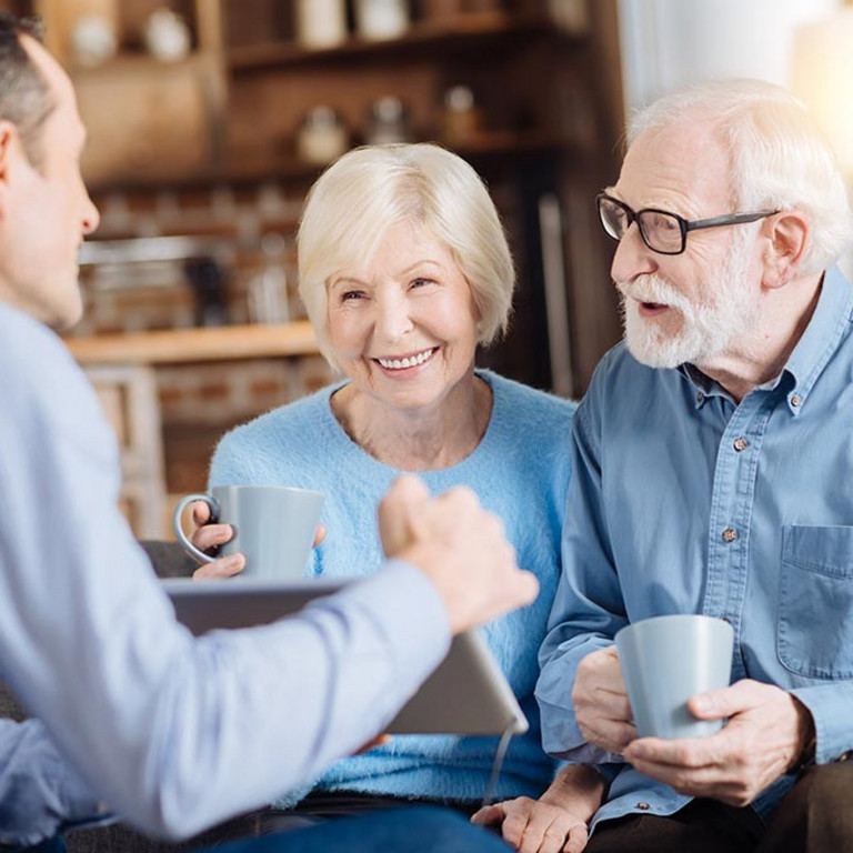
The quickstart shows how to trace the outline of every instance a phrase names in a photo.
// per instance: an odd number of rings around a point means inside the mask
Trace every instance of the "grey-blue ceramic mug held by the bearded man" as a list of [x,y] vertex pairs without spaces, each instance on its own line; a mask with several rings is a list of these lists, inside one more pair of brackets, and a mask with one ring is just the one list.
[[726,688],[734,632],[722,619],[654,616],[616,633],[628,698],[641,737],[703,737],[722,720],[699,720],[688,709],[698,693]]

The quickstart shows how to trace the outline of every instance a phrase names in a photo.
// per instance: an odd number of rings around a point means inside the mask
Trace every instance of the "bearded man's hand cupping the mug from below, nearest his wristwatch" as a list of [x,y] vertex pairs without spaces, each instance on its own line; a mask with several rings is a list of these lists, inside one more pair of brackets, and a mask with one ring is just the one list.
[[624,751],[625,761],[682,794],[743,806],[796,763],[813,734],[809,710],[771,684],[739,681],[693,696],[701,720],[729,722],[710,737],[663,741],[642,737]]

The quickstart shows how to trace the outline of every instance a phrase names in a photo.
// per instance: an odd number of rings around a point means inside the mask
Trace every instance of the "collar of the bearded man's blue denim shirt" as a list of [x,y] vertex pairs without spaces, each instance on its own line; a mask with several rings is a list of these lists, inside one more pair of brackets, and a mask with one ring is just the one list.
[[[774,390],[785,378],[787,408],[792,414],[802,410],[812,387],[830,360],[853,317],[853,288],[837,267],[831,267],[823,277],[817,305],[809,325],[797,341],[779,377],[760,385],[763,391]],[[693,385],[693,404],[701,409],[709,397],[731,395],[693,364],[682,364],[681,374]]]

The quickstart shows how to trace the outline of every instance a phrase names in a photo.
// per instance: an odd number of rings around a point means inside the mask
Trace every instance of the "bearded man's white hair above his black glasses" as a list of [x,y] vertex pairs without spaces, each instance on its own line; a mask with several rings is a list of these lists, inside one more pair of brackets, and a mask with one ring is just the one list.
[[735,209],[800,210],[811,224],[800,271],[834,263],[853,239],[853,217],[835,155],[805,106],[763,80],[711,80],[638,113],[629,144],[646,131],[706,118],[729,151]]

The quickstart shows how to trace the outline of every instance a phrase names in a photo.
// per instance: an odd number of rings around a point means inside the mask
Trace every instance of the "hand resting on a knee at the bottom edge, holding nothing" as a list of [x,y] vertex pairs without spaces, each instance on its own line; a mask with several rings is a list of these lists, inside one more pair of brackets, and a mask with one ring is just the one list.
[[581,853],[589,837],[583,817],[528,796],[486,805],[471,821],[502,823],[503,840],[521,853]]

